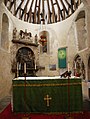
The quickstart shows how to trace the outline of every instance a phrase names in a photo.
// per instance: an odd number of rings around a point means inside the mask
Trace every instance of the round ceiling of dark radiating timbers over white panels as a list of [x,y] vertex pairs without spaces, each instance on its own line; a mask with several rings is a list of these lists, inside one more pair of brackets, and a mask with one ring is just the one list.
[[5,6],[17,18],[29,23],[60,22],[72,15],[81,0],[4,0]]

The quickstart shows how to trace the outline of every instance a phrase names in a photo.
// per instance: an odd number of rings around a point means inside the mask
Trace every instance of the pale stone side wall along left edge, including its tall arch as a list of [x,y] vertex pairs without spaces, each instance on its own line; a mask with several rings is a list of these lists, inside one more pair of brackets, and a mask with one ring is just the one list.
[[[5,14],[7,17],[7,21],[5,21],[7,23],[5,23],[4,26],[2,25],[4,23],[3,14]],[[7,10],[3,7],[2,1],[0,1],[0,98],[3,98],[4,96],[11,94],[12,79],[14,78],[11,73],[11,54],[9,49],[11,39],[11,28],[12,22],[9,19]],[[6,31],[4,32],[4,30]],[[3,42],[4,40],[6,41],[5,43]]]

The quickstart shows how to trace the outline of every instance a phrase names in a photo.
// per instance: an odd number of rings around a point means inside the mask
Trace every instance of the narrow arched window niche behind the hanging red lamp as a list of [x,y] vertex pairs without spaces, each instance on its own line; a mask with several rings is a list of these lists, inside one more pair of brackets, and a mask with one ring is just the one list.
[[40,36],[40,53],[49,53],[49,33],[48,31],[41,31]]

